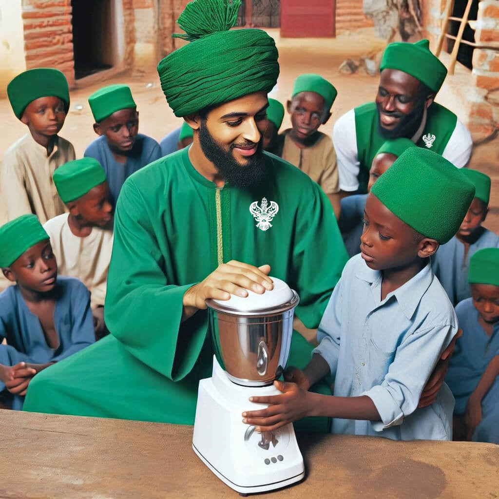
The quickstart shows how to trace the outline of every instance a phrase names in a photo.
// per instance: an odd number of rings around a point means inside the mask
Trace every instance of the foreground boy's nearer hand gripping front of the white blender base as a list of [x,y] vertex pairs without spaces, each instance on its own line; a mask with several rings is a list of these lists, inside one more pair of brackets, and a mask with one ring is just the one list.
[[255,425],[259,432],[271,432],[310,415],[310,392],[296,383],[274,381],[274,386],[282,395],[250,397],[250,402],[269,404],[266,409],[243,413],[243,423]]

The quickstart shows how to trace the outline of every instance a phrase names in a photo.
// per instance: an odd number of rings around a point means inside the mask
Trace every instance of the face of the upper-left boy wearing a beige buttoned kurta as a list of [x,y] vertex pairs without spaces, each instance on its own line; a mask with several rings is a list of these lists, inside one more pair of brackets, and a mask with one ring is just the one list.
[[64,102],[58,97],[40,97],[31,101],[21,116],[21,121],[28,126],[31,134],[46,137],[57,135],[65,119]]

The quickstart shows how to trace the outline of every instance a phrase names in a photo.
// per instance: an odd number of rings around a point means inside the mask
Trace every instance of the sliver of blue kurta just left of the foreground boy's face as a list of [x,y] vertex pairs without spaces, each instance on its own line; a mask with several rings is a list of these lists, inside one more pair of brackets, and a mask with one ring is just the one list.
[[338,227],[350,257],[360,253],[360,236],[364,230],[362,220],[364,219],[366,200],[367,194],[355,194],[341,200]]

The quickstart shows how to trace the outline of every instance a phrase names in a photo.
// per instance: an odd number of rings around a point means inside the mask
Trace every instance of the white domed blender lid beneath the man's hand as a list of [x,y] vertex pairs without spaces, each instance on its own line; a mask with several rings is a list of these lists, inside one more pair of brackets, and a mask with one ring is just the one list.
[[232,294],[228,300],[207,300],[208,306],[216,310],[227,310],[237,312],[256,312],[269,311],[274,308],[281,308],[289,304],[289,307],[295,306],[298,301],[298,295],[281,279],[270,277],[274,283],[271,290],[265,290],[263,294],[254,293],[248,290],[248,296],[242,298]]

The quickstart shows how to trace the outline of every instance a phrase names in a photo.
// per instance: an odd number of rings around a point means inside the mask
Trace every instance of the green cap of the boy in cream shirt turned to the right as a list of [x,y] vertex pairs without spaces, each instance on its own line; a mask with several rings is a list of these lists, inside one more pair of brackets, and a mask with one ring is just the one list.
[[53,179],[62,202],[69,203],[105,182],[106,174],[97,160],[82,158],[57,168]]

